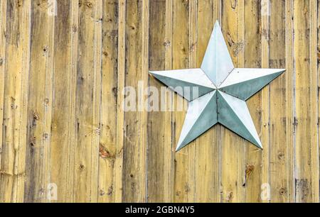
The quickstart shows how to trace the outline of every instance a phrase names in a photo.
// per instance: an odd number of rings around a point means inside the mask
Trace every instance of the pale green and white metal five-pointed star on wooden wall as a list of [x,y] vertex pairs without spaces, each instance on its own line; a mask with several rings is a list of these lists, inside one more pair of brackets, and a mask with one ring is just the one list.
[[217,123],[262,148],[245,101],[284,71],[235,68],[217,21],[200,69],[150,72],[189,101],[176,151]]

